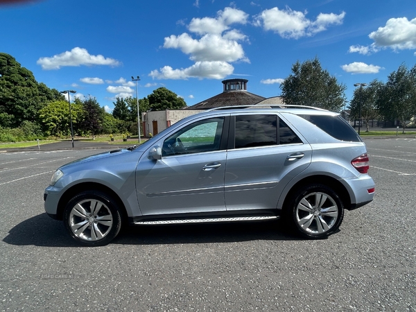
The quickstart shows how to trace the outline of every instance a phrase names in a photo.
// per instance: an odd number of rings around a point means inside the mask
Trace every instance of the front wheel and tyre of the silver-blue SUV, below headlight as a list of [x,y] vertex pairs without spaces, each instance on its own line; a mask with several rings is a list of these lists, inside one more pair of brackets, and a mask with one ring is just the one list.
[[83,191],[64,210],[69,235],[86,246],[107,245],[119,234],[121,213],[116,202],[101,191]]

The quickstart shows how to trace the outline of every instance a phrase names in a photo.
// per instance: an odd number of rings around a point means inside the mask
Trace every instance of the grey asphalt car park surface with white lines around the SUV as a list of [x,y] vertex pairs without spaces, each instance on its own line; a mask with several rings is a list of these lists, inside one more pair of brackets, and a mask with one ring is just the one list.
[[125,230],[83,248],[44,213],[55,168],[0,153],[1,311],[416,311],[416,139],[365,139],[373,202],[310,241],[281,221]]

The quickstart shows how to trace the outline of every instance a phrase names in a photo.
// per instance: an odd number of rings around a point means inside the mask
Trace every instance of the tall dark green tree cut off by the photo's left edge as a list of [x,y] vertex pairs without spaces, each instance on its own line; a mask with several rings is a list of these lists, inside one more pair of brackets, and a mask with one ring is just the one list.
[[62,99],[57,90],[37,83],[11,55],[0,53],[0,125],[17,128],[25,120],[35,122],[49,101]]

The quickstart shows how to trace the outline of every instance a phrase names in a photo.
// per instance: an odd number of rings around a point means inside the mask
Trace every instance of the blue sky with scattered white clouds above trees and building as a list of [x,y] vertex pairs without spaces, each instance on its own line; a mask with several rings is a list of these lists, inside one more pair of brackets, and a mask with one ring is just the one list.
[[0,0],[0,52],[38,82],[94,96],[166,87],[193,105],[248,79],[279,96],[292,65],[318,57],[347,86],[386,81],[416,61],[415,0]]

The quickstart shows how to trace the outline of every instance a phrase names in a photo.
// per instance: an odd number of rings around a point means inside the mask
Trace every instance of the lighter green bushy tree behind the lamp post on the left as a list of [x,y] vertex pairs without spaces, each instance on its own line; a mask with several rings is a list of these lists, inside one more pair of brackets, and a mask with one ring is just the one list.
[[[82,103],[76,102],[71,104],[74,132],[78,129],[78,123],[83,119],[84,114]],[[39,116],[44,125],[46,135],[55,137],[68,137],[71,135],[71,119],[67,101],[50,102],[40,110]]]

